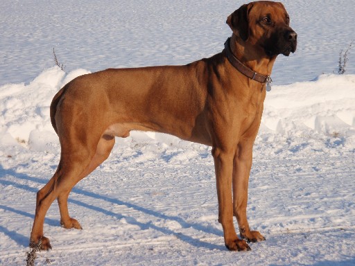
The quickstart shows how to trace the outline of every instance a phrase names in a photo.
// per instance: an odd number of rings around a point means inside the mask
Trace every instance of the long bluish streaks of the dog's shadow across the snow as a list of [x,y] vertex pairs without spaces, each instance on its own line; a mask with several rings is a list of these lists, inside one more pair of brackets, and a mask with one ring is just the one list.
[[[22,179],[22,180],[26,180],[26,181],[35,181],[39,184],[46,184],[48,180],[46,179],[41,179],[38,177],[30,177],[28,175],[25,175],[23,173],[19,173],[16,172],[15,170],[10,169],[3,169],[0,165],[0,184],[2,184],[3,186],[14,186],[15,188],[19,188],[20,190],[27,190],[30,191],[31,193],[37,193],[37,188],[32,188],[31,186],[25,185],[25,184],[19,184],[15,181],[9,181],[4,179],[3,177],[5,177],[6,175],[12,175],[14,177],[16,177],[17,179]],[[112,197],[107,197],[105,195],[100,195],[98,193],[93,193],[87,190],[83,190],[81,188],[73,188],[72,190],[74,193],[80,194],[80,195],[85,195],[86,197],[92,197],[93,199],[100,199],[100,200],[104,200],[105,202],[110,202],[112,204],[117,204],[117,205],[121,205],[121,206],[126,206],[128,208],[134,209],[135,211],[139,211],[141,213],[145,213],[147,215],[153,215],[155,216],[155,218],[159,218],[159,219],[164,219],[164,220],[172,220],[175,222],[178,222],[181,227],[184,228],[193,228],[196,229],[198,231],[204,231],[205,233],[213,233],[216,236],[220,237],[221,239],[223,239],[223,232],[214,228],[214,227],[208,227],[202,224],[198,224],[198,223],[190,223],[190,222],[186,222],[185,220],[183,220],[182,218],[178,217],[178,216],[173,216],[173,215],[165,215],[164,213],[159,213],[158,211],[154,211],[154,210],[150,210],[150,209],[146,209],[142,206],[139,206],[137,204],[132,204],[130,202],[123,202],[122,200],[119,199],[115,199]],[[103,213],[105,215],[110,215],[116,219],[122,219],[125,218],[125,220],[130,223],[130,224],[134,224],[138,227],[140,227],[141,229],[155,229],[156,231],[159,231],[161,233],[164,233],[166,235],[173,235],[176,238],[187,242],[189,245],[192,245],[194,247],[204,247],[206,249],[218,249],[218,250],[225,250],[224,245],[214,245],[211,244],[209,242],[204,242],[202,240],[199,240],[197,238],[192,238],[191,236],[188,236],[187,234],[181,233],[181,232],[176,232],[173,231],[172,229],[168,229],[166,227],[158,227],[157,225],[153,224],[152,222],[139,222],[137,221],[135,218],[133,218],[132,216],[128,217],[126,215],[122,215],[121,213],[115,213],[113,211],[108,211],[106,209],[103,209],[100,206],[94,206],[94,205],[89,205],[86,204],[85,202],[81,202],[79,200],[76,199],[68,199],[68,202],[71,202],[73,204],[76,204],[78,206],[82,206],[84,208],[90,209],[92,211],[97,211],[99,213]],[[4,211],[10,211],[12,213],[17,213],[18,215],[23,215],[27,218],[34,218],[34,215],[31,213],[27,213],[25,211],[19,211],[15,208],[12,208],[11,206],[5,206],[0,204],[0,209],[3,209]],[[35,206],[33,206],[33,210],[35,209]],[[45,223],[49,224],[51,226],[57,226],[59,225],[59,221],[58,220],[53,220],[53,219],[49,219],[46,218],[45,219]],[[14,240],[18,245],[27,247],[28,246],[28,237],[26,236],[22,236],[21,234],[15,232],[15,231],[10,231],[8,229],[6,229],[6,227],[0,227],[0,232],[4,233],[6,236],[8,236],[9,238],[11,238],[12,240]]]

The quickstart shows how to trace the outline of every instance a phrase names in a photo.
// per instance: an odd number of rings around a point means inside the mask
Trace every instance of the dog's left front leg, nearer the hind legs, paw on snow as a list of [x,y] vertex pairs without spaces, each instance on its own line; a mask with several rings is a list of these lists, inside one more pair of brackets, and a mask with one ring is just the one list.
[[233,224],[232,172],[234,151],[226,152],[223,149],[214,147],[212,155],[216,169],[218,222],[223,227],[225,246],[231,251],[250,250],[245,240],[241,240],[236,236]]

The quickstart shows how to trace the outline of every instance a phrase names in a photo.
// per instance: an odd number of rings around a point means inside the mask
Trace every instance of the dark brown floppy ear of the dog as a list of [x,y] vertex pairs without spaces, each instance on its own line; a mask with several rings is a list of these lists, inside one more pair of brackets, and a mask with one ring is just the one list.
[[252,3],[248,5],[245,4],[235,10],[229,17],[227,17],[226,23],[230,26],[233,33],[245,42],[249,37],[249,19],[248,15],[250,9],[252,8]]

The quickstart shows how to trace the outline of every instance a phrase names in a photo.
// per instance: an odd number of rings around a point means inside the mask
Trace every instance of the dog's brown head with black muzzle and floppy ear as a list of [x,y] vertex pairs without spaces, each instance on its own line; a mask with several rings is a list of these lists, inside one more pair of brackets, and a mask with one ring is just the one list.
[[268,57],[288,56],[296,51],[297,33],[290,27],[290,17],[282,3],[248,3],[227,17],[227,24],[241,42],[262,48]]

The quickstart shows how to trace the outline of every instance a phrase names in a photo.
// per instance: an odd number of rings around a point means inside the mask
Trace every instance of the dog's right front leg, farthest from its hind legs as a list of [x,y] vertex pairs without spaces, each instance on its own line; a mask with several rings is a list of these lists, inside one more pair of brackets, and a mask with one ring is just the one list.
[[252,167],[254,139],[239,143],[233,163],[233,213],[238,220],[241,237],[248,242],[265,240],[258,231],[250,231],[247,220],[248,184]]

